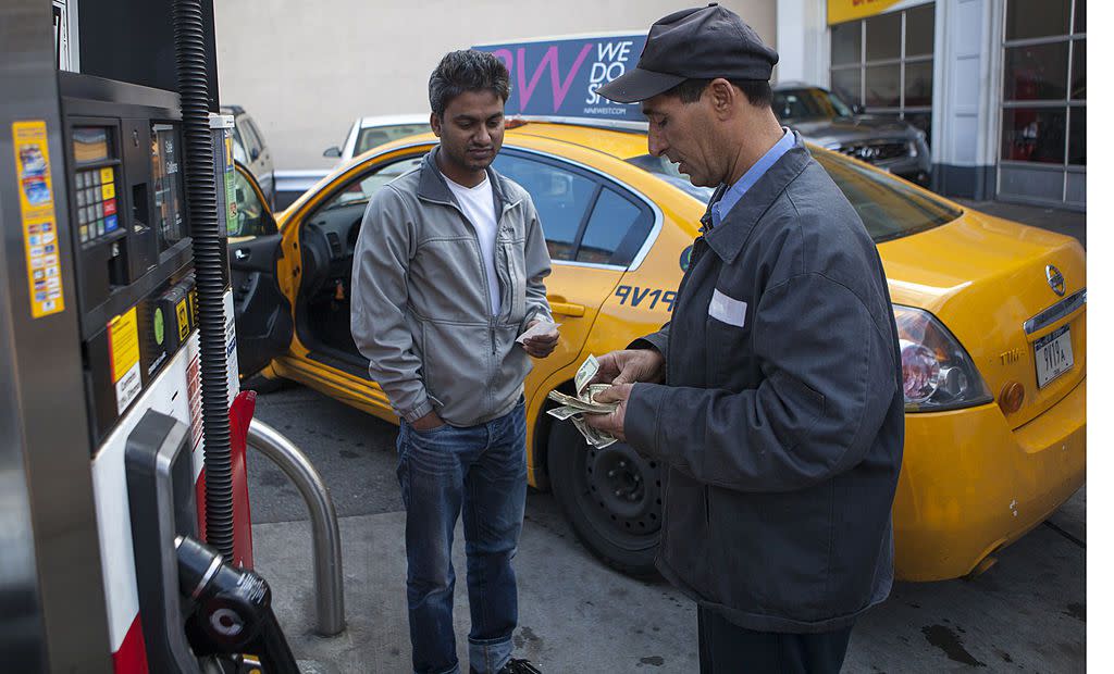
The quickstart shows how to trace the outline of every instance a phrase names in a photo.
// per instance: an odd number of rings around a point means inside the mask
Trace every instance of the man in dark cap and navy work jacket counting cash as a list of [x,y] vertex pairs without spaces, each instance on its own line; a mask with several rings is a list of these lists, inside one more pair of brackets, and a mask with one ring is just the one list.
[[698,602],[702,672],[838,672],[893,579],[905,404],[881,261],[770,109],[778,55],[717,6],[655,23],[599,92],[716,186],[673,320],[599,359],[589,423],[668,466],[657,566]]

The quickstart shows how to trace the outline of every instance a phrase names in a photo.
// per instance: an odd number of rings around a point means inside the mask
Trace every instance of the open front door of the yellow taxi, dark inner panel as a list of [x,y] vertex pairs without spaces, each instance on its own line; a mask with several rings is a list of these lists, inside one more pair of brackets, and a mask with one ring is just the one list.
[[228,217],[228,266],[236,312],[241,377],[258,372],[290,346],[294,322],[278,287],[282,234],[258,182],[236,162],[235,199]]

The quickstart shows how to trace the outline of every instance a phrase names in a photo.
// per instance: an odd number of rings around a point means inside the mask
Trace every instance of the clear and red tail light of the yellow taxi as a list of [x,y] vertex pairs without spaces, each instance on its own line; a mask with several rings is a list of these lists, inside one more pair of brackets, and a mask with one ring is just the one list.
[[907,412],[990,402],[989,389],[959,341],[927,311],[893,305]]

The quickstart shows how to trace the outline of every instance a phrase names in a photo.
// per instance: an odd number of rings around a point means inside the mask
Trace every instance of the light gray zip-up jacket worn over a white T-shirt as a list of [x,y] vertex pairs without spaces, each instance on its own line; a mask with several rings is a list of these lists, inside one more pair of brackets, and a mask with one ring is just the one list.
[[476,229],[437,152],[368,204],[352,262],[352,338],[400,418],[436,410],[467,427],[506,414],[522,393],[530,359],[515,340],[532,319],[553,320],[549,253],[529,194],[488,168],[502,305],[492,316]]

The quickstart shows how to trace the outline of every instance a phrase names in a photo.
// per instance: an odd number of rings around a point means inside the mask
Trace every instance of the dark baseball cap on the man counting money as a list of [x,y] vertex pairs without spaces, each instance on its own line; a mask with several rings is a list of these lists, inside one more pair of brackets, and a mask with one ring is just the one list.
[[600,96],[636,102],[686,79],[770,80],[778,52],[739,14],[715,2],[684,9],[649,27],[635,69],[599,87]]

